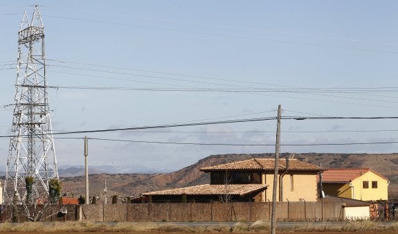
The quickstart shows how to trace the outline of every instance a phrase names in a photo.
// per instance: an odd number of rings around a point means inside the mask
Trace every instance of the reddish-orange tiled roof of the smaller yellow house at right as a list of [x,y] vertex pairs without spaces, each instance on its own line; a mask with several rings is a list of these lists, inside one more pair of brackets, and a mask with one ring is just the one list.
[[386,177],[381,176],[377,172],[370,170],[369,168],[344,168],[344,169],[328,169],[322,173],[323,183],[348,183],[366,172],[373,172],[379,175],[383,179],[388,180]]

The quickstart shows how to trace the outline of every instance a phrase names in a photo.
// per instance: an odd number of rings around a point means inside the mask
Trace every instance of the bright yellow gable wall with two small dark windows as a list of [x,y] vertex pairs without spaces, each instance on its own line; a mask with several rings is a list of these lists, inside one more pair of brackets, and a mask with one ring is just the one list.
[[[362,188],[363,181],[369,181],[369,188]],[[372,181],[377,181],[377,188],[372,188]],[[366,172],[351,183],[354,186],[354,199],[362,201],[388,199],[388,181],[373,172]]]

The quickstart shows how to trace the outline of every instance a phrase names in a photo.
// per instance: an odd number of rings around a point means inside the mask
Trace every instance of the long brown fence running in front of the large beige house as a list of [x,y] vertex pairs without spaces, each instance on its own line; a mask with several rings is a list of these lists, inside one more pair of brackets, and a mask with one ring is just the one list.
[[[255,222],[271,220],[272,203],[148,203],[80,206],[78,219],[91,222]],[[343,219],[343,203],[277,202],[280,221]]]

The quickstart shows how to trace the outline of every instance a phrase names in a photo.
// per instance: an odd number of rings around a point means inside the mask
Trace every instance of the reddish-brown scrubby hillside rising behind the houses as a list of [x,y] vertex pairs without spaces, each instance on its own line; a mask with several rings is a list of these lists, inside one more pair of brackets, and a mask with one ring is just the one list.
[[[105,180],[107,195],[138,197],[143,192],[179,188],[209,183],[209,175],[199,169],[232,161],[273,157],[274,154],[221,154],[199,160],[186,168],[168,174],[93,174],[89,176],[90,196],[102,195]],[[290,154],[301,161],[319,165],[323,168],[370,168],[390,180],[389,192],[398,188],[398,154]],[[84,177],[63,178],[63,192],[71,191],[75,196],[84,194]]]

